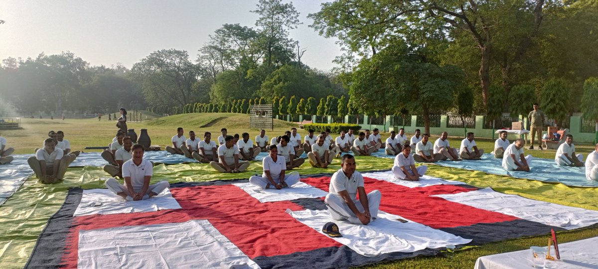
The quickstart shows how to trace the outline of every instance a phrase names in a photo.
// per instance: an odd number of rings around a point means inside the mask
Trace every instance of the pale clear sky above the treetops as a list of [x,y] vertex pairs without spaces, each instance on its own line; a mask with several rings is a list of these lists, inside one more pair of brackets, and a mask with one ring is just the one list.
[[[35,58],[39,53],[71,51],[91,65],[123,63],[131,68],[163,48],[186,50],[191,60],[214,30],[225,23],[255,27],[257,0],[0,0],[0,59]],[[288,1],[285,1],[288,2]],[[291,38],[307,51],[302,62],[322,70],[340,55],[334,39],[319,36],[307,14],[321,0],[295,0],[300,14]]]

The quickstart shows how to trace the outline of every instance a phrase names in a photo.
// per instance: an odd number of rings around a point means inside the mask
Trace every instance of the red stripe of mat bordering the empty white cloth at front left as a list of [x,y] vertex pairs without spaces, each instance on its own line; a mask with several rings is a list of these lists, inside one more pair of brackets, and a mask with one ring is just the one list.
[[90,215],[74,218],[63,256],[66,267],[77,267],[80,230],[208,219],[249,258],[287,255],[321,247],[342,246],[297,221],[286,209],[303,210],[290,201],[260,203],[234,185],[170,189],[182,209],[157,212]]

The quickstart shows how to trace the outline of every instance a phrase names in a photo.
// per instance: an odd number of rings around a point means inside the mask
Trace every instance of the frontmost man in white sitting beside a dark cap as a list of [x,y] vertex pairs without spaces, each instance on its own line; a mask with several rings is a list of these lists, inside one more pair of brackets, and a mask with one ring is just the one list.
[[377,189],[366,194],[364,177],[355,171],[353,155],[343,155],[340,166],[330,179],[329,193],[324,199],[328,212],[335,221],[368,225],[378,216],[382,194]]

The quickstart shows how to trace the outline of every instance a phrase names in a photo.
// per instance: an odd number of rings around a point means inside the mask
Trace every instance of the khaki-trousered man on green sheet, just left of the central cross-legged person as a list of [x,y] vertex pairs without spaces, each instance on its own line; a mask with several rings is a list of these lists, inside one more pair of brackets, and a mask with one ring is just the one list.
[[239,161],[239,148],[233,136],[224,138],[224,145],[218,147],[218,162],[210,161],[210,166],[220,173],[240,173],[249,167],[249,161]]

